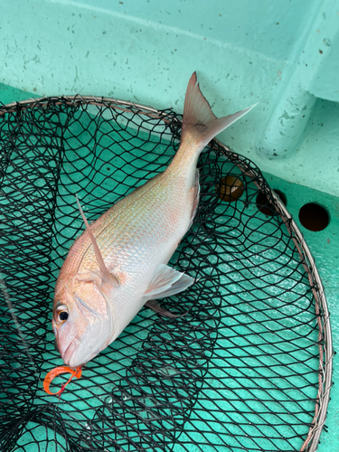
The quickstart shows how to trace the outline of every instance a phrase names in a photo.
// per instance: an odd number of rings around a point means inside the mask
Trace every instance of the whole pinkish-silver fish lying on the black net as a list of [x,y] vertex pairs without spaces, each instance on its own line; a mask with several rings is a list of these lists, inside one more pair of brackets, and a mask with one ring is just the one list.
[[89,223],[74,241],[56,281],[52,328],[56,348],[71,368],[85,365],[115,341],[148,306],[193,285],[195,278],[168,261],[190,229],[199,203],[197,162],[203,148],[251,108],[217,118],[196,72],[188,82],[180,146],[171,163]]

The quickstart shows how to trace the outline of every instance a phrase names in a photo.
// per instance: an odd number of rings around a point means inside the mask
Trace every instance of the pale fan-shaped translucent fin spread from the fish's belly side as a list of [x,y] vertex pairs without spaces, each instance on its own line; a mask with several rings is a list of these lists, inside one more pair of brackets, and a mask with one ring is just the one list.
[[192,286],[193,282],[194,278],[165,264],[160,264],[155,270],[144,297],[148,300],[150,298],[171,297]]

